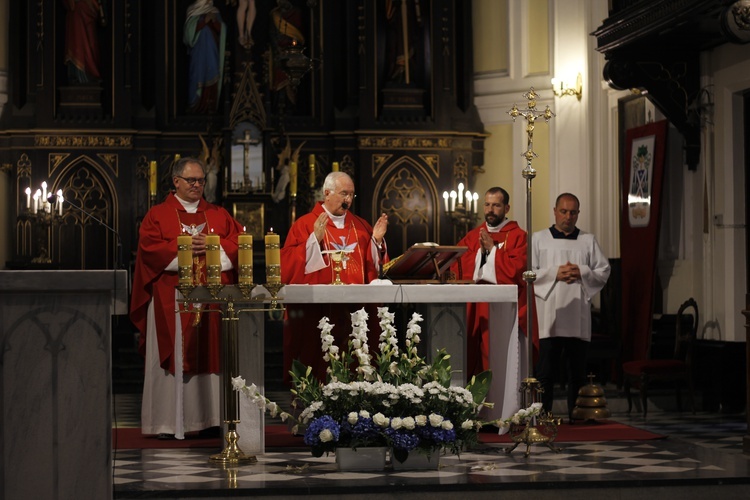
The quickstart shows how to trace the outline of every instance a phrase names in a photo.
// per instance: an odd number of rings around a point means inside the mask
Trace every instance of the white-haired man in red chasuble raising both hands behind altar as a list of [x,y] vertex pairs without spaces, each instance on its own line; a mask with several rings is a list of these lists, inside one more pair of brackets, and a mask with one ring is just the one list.
[[[380,265],[387,261],[385,232],[388,217],[382,214],[375,226],[350,212],[354,201],[354,181],[344,172],[331,172],[323,182],[324,201],[292,225],[281,249],[281,282],[286,284],[330,285],[336,280],[332,257],[342,257],[342,282],[366,284],[378,278]],[[356,304],[292,305],[287,307],[284,324],[284,379],[292,361],[298,359],[313,367],[313,373],[325,379],[320,318],[328,316],[335,325],[333,336],[340,349],[346,348],[352,331],[350,314]],[[370,320],[373,320],[370,314]],[[377,318],[371,325],[377,325]],[[370,346],[380,335],[370,327]]]

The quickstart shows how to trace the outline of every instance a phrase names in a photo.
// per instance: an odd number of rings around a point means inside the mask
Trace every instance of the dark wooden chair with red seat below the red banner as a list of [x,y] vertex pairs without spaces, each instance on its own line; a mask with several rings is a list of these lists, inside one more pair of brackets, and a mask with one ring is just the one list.
[[[692,318],[685,317],[687,309],[692,308]],[[692,322],[689,320],[692,319]],[[682,411],[682,398],[680,389],[682,385],[688,386],[690,406],[695,414],[695,400],[693,399],[693,376],[692,356],[693,343],[698,331],[698,304],[691,297],[683,302],[677,311],[677,325],[675,327],[674,355],[670,359],[645,359],[641,361],[628,361],[623,363],[623,383],[625,395],[628,398],[628,413],[633,407],[630,397],[630,388],[636,387],[641,393],[641,404],[643,416],[648,411],[648,390],[654,383],[665,382],[673,384],[677,397],[677,408]]]

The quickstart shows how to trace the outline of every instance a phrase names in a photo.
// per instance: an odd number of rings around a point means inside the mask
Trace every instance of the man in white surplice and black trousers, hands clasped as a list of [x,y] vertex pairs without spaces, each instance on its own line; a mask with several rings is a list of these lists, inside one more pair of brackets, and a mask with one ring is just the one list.
[[568,364],[568,417],[578,390],[586,384],[586,356],[591,342],[591,299],[607,283],[609,260],[593,234],[576,227],[580,202],[570,193],[557,197],[555,224],[531,238],[534,295],[539,321],[536,378],[542,406],[552,410],[555,377],[563,352]]

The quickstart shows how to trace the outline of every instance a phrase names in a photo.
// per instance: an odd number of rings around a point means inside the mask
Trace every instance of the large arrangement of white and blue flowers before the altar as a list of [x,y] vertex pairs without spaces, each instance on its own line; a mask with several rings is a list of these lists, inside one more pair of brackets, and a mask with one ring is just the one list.
[[[417,352],[421,315],[412,315],[403,351],[398,347],[394,316],[388,308],[378,308],[382,333],[374,357],[367,345],[364,308],[351,315],[352,332],[344,351],[331,335],[335,325],[323,317],[318,328],[323,358],[329,364],[325,384],[310,367],[294,362],[292,405],[301,411],[296,418],[282,412],[281,418],[294,421],[295,433],[305,426],[304,442],[314,456],[337,447],[363,446],[388,446],[400,462],[412,451],[459,453],[476,443],[483,425],[496,423],[477,419],[483,405],[491,406],[484,400],[491,373],[473,377],[466,388],[451,386],[450,355],[439,350],[428,363]],[[272,415],[279,411],[254,385],[247,386],[240,377],[232,382]]]

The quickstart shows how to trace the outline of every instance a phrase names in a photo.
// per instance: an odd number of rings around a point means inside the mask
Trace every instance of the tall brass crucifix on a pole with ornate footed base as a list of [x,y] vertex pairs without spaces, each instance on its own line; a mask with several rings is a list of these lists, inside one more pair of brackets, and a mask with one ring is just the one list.
[[[513,107],[508,111],[513,121],[519,116],[526,120],[526,151],[521,156],[526,159],[526,166],[521,172],[524,179],[526,179],[526,229],[527,229],[527,270],[523,273],[523,279],[526,282],[526,339],[528,342],[528,377],[521,382],[519,391],[523,394],[521,403],[525,408],[528,408],[531,404],[537,403],[539,400],[539,394],[543,391],[541,384],[534,377],[534,342],[533,342],[533,331],[534,331],[534,292],[533,284],[536,281],[536,273],[532,266],[532,246],[531,246],[531,181],[536,177],[536,170],[531,165],[537,154],[534,152],[534,127],[535,123],[539,118],[543,118],[545,122],[549,123],[550,119],[554,116],[549,106],[544,111],[539,111],[536,108],[536,101],[539,95],[534,92],[534,88],[529,89],[528,92],[523,94],[526,98],[527,104],[526,109],[518,109],[514,104]],[[542,414],[540,416],[533,416],[528,422],[521,424],[511,424],[510,437],[514,441],[514,445],[506,450],[506,453],[512,452],[519,444],[526,444],[526,456],[529,455],[529,448],[532,444],[546,444],[553,451],[560,451],[559,448],[552,446],[551,442],[557,437],[557,420],[554,418],[552,413]]]

